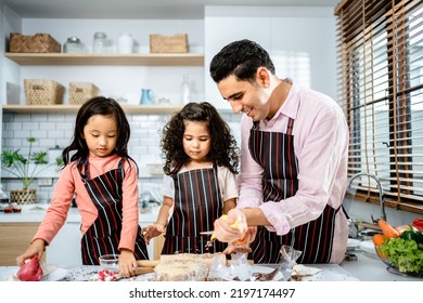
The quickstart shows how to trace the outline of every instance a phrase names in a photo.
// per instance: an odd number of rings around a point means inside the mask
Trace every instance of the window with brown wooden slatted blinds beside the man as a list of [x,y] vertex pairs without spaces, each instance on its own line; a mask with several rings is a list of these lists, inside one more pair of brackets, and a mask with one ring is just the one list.
[[[386,205],[423,213],[423,1],[344,0],[335,15],[348,176],[372,173]],[[377,200],[372,179],[357,187]]]

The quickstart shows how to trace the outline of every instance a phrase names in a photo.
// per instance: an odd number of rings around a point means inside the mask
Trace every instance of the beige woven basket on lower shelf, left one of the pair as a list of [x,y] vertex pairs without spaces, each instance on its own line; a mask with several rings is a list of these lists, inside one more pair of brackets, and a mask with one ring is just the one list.
[[26,104],[49,105],[63,102],[64,87],[48,79],[24,79]]

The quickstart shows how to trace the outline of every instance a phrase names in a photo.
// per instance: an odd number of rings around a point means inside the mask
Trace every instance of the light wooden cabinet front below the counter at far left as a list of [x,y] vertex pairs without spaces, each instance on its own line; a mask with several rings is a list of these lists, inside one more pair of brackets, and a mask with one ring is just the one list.
[[39,222],[0,222],[0,266],[16,265],[16,256],[29,246]]

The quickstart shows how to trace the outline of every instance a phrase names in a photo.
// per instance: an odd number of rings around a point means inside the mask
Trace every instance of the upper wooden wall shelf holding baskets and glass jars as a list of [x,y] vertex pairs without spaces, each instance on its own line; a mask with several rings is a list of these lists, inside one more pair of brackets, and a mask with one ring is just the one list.
[[4,53],[7,58],[29,65],[103,65],[103,66],[203,66],[201,53],[154,54],[65,54],[65,53]]

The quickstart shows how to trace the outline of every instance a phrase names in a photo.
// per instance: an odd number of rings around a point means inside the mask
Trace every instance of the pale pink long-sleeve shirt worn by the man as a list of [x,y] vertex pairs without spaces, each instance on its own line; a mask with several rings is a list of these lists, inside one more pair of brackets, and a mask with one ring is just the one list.
[[[286,132],[294,119],[294,148],[298,160],[298,190],[281,202],[262,201],[262,168],[248,150],[253,120],[241,120],[241,173],[238,208],[258,207],[271,223],[269,230],[285,235],[291,228],[316,220],[328,205],[337,209],[347,186],[348,126],[341,107],[329,96],[293,84],[281,108],[270,120],[260,121],[261,131]],[[331,263],[345,255],[348,237],[346,216],[336,214]]]

